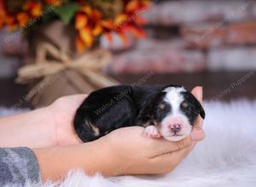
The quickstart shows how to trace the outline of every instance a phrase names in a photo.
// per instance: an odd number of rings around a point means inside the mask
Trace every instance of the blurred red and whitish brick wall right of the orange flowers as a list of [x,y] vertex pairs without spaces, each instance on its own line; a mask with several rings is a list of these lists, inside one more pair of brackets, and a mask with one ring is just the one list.
[[147,40],[117,53],[108,71],[256,70],[256,0],[158,2],[143,12]]

